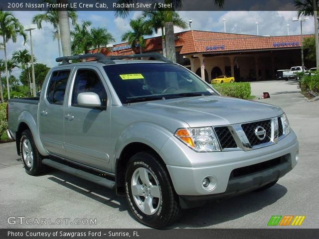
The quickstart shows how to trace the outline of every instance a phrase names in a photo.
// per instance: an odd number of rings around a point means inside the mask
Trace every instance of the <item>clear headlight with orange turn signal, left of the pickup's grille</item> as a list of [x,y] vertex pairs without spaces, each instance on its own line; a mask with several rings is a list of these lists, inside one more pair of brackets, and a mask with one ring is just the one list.
[[220,151],[217,137],[212,127],[180,128],[175,137],[197,152]]

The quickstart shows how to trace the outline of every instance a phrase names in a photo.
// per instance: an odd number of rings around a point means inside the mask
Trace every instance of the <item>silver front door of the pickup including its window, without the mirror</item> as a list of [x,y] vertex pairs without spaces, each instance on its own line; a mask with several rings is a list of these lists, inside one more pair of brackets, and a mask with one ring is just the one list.
[[[64,118],[67,158],[110,171],[110,93],[97,67],[75,68],[74,75]],[[77,96],[82,92],[98,94],[102,107],[97,109],[78,105]]]

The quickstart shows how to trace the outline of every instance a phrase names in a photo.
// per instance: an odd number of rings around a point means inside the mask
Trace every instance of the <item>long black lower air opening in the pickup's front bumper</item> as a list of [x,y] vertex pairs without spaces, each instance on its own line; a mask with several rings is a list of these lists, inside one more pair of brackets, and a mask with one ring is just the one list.
[[262,163],[257,163],[257,164],[249,165],[246,167],[236,168],[231,172],[230,178],[236,178],[236,177],[249,175],[252,173],[257,173],[262,170],[269,169],[271,167],[277,166],[285,162],[287,162],[287,157],[282,156],[282,157],[274,158]]

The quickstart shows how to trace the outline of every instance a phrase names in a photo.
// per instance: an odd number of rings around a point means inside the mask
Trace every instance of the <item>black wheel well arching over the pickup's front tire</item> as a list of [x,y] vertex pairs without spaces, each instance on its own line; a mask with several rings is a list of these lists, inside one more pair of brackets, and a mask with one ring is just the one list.
[[140,142],[135,142],[135,143],[130,143],[125,148],[122,150],[120,158],[117,159],[116,161],[116,174],[115,174],[115,182],[116,182],[116,194],[124,196],[125,195],[125,172],[126,172],[126,167],[127,163],[130,160],[130,158],[142,151],[148,151],[152,152],[155,155],[158,156],[160,159],[160,163],[166,168],[166,164],[164,161],[161,159],[160,155],[149,145],[145,143],[140,143]]

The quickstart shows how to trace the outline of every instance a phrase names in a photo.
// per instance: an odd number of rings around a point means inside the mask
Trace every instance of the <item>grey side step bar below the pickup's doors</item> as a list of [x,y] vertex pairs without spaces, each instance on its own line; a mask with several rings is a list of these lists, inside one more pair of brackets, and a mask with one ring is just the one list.
[[53,160],[47,159],[47,158],[43,159],[42,163],[45,165],[48,165],[52,168],[56,168],[56,169],[61,170],[63,172],[75,175],[79,178],[83,178],[83,179],[88,180],[90,182],[102,185],[104,187],[107,187],[110,189],[115,188],[115,182],[112,180],[109,180],[107,178],[102,178],[102,177],[99,177],[99,176],[94,175],[92,173],[88,173],[88,172],[85,172],[85,171],[80,170],[80,169],[72,168],[70,166],[64,165],[62,163],[58,163],[56,161],[53,161]]

